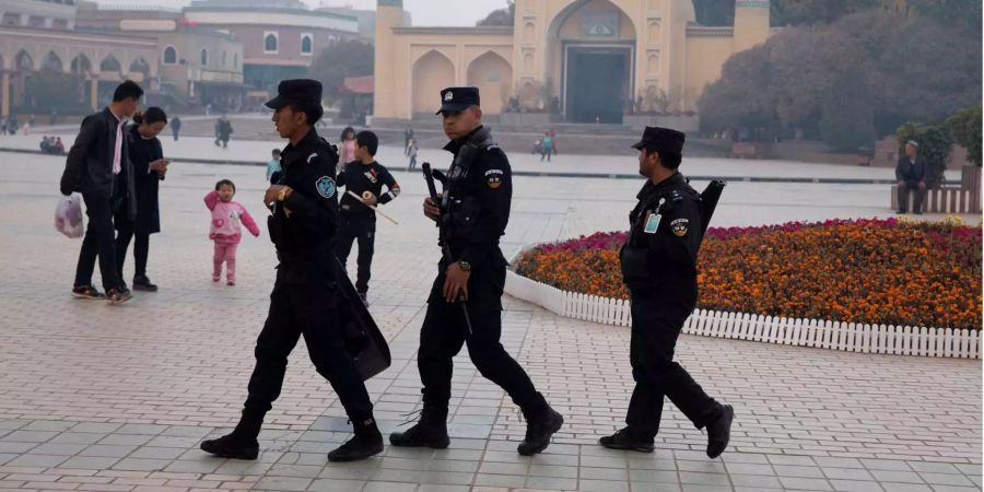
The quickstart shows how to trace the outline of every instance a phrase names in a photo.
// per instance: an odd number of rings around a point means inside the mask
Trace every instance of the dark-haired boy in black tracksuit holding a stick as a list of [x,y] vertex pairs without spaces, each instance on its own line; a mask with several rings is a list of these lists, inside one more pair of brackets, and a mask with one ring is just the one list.
[[[361,200],[348,192],[341,196],[341,225],[335,254],[345,265],[349,253],[352,251],[352,242],[359,241],[355,291],[366,305],[368,302],[365,295],[368,292],[370,268],[376,241],[376,212],[370,207],[389,203],[400,196],[400,185],[385,166],[376,162],[378,147],[376,133],[360,131],[355,136],[355,161],[345,164],[345,168],[338,175],[338,187],[345,187],[345,191],[354,192]],[[387,188],[385,194],[383,185]]]

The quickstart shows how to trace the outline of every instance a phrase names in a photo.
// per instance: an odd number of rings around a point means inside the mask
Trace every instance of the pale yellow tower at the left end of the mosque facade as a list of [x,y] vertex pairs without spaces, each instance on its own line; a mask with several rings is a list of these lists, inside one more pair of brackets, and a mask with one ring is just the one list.
[[376,2],[376,40],[374,79],[375,94],[373,96],[373,116],[383,118],[396,117],[393,95],[396,87],[393,86],[395,75],[394,67],[394,27],[403,25],[402,0],[377,0]]

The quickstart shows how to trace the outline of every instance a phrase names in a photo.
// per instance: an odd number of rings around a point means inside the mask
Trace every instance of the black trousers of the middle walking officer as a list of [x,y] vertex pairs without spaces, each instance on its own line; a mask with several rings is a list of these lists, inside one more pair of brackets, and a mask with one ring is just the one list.
[[[499,339],[502,335],[502,290],[505,266],[489,265],[487,260],[471,272],[468,281],[468,314],[471,335],[465,325],[459,303],[444,300],[444,266],[434,280],[427,300],[427,313],[420,330],[417,366],[423,382],[426,406],[447,409],[450,399],[452,359],[468,345],[468,355],[479,373],[503,388],[513,402],[525,412],[537,412],[547,406],[523,367],[505,351]],[[443,263],[443,262],[442,262]]]

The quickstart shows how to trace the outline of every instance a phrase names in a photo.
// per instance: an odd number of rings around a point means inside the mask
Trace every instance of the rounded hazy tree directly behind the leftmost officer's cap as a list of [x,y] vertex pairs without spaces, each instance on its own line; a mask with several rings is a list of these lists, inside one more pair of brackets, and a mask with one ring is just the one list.
[[311,65],[311,78],[325,86],[324,96],[333,103],[347,77],[373,74],[373,45],[356,39],[335,42],[321,49]]

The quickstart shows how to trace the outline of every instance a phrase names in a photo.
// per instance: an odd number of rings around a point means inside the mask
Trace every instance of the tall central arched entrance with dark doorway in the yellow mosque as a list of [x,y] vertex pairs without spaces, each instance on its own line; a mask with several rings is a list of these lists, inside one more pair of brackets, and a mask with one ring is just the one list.
[[566,121],[621,124],[634,98],[636,30],[609,0],[577,0],[547,32],[548,79]]

